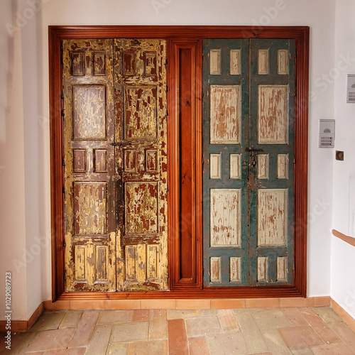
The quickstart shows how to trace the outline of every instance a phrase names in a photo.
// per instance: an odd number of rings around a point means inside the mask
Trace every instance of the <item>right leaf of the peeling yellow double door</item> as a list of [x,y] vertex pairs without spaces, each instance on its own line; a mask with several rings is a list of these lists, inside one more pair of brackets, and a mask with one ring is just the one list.
[[167,256],[164,40],[114,40],[118,290],[165,290]]

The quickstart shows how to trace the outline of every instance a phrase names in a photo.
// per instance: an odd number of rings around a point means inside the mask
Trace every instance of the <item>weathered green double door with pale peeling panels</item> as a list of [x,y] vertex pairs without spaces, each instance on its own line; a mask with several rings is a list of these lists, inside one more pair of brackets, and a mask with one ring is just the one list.
[[293,284],[293,40],[204,40],[204,285]]

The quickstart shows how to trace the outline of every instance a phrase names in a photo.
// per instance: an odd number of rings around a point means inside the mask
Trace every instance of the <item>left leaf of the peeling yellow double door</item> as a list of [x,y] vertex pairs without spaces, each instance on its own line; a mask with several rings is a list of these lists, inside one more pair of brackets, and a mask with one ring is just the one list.
[[116,290],[112,40],[65,40],[65,284]]

